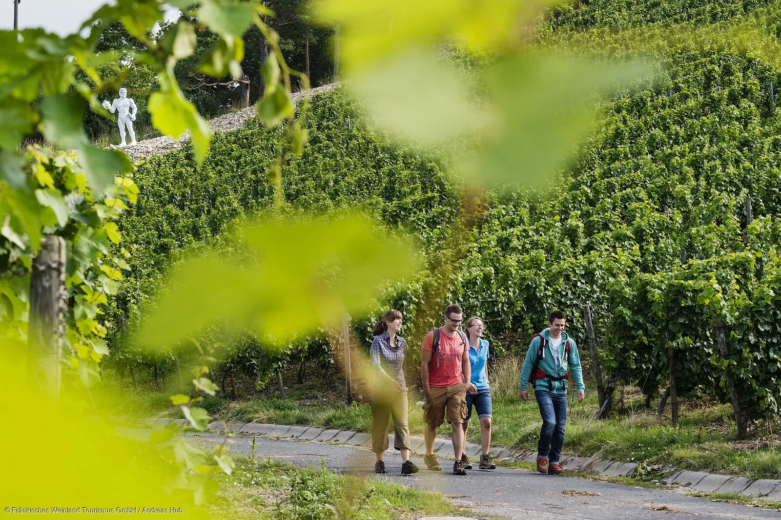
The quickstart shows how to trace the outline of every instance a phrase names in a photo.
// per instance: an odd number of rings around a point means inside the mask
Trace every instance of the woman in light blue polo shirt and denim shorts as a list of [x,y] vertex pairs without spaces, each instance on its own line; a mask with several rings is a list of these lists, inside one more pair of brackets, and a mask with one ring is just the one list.
[[[496,465],[490,460],[490,419],[492,405],[490,386],[488,385],[488,341],[483,340],[483,320],[477,317],[469,318],[464,324],[466,337],[469,338],[469,363],[472,365],[472,383],[477,388],[475,394],[466,394],[466,419],[464,421],[464,447],[466,445],[466,430],[469,429],[469,419],[472,418],[472,407],[480,417],[480,443],[483,454],[480,455],[480,469],[494,469]],[[463,468],[471,469],[472,463],[466,457],[462,447],[461,461]]]

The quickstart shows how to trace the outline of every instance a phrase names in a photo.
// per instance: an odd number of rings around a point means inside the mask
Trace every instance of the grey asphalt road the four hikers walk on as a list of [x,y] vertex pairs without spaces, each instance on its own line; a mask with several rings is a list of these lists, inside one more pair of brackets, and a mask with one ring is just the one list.
[[[224,440],[223,436],[216,434],[192,435],[207,442]],[[249,455],[251,439],[251,436],[234,437],[231,450]],[[300,466],[319,466],[325,461],[326,466],[335,472],[374,475],[374,455],[364,447],[258,437],[255,455]],[[412,460],[420,468],[425,468],[421,458],[413,457]],[[781,518],[781,511],[712,502],[672,491],[649,490],[575,476],[540,475],[525,469],[473,469],[465,476],[452,475],[452,463],[444,459],[440,459],[442,472],[421,469],[415,475],[401,475],[401,456],[393,450],[386,452],[385,464],[389,473],[376,475],[378,478],[422,490],[439,491],[456,503],[484,515],[524,520],[562,520],[564,517],[590,520]]]

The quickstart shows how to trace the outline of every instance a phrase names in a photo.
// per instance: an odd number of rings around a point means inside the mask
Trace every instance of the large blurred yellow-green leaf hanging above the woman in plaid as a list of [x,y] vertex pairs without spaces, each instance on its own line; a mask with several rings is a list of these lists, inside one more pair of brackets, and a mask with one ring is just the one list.
[[262,223],[238,236],[236,248],[251,262],[237,266],[216,251],[183,262],[144,322],[141,344],[175,344],[226,319],[281,344],[364,311],[385,283],[416,267],[405,240],[351,215]]

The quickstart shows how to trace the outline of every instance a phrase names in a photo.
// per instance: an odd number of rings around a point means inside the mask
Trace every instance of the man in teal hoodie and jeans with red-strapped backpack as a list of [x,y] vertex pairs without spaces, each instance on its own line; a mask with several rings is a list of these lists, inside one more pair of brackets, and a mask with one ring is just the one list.
[[534,397],[542,416],[540,442],[537,443],[537,471],[548,475],[564,471],[558,459],[562,454],[567,426],[568,366],[572,369],[572,379],[575,379],[578,402],[583,401],[586,390],[575,340],[564,332],[566,321],[564,312],[551,312],[547,319],[550,327],[532,338],[521,369],[521,399],[529,399],[529,390],[526,389],[529,383],[533,383]]

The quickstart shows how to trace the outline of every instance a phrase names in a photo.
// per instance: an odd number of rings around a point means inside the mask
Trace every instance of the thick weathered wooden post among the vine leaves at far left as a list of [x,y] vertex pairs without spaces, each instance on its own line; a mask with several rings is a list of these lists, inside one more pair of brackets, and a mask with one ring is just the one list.
[[65,297],[65,240],[44,237],[30,276],[30,322],[27,336],[34,379],[48,397],[59,398],[62,369],[60,338]]

